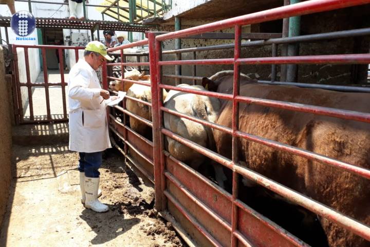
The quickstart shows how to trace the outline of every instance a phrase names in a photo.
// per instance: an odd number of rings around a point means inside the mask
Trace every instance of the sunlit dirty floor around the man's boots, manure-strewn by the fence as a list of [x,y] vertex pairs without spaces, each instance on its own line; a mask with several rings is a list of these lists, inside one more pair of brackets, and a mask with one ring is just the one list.
[[81,204],[78,154],[67,145],[14,145],[13,161],[16,181],[0,246],[186,246],[153,209],[153,188],[114,149],[100,168],[106,213]]

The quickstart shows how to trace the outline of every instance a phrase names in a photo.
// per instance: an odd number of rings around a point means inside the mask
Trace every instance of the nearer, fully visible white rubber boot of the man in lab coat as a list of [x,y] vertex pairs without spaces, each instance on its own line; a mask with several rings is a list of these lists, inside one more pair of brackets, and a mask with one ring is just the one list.
[[85,207],[102,213],[109,210],[109,207],[98,200],[98,188],[100,178],[85,178]]

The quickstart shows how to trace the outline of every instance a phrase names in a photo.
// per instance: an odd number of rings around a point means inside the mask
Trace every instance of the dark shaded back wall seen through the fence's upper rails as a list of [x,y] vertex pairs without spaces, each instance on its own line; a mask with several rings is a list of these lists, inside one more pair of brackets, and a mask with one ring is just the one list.
[[[200,1],[200,0],[199,0]],[[201,1],[200,1],[201,2]],[[203,1],[205,2],[205,1]],[[368,27],[370,19],[364,18],[370,11],[369,5],[340,9],[335,11],[310,14],[302,16],[301,35],[350,30]],[[181,29],[198,26],[205,23],[219,21],[220,19],[186,19],[181,17]],[[174,31],[173,19],[160,24],[160,31]],[[220,30],[223,32],[234,32],[233,29]],[[244,27],[243,32],[282,32],[282,21],[267,22]],[[233,40],[204,40],[204,39],[182,39],[182,48],[201,47],[216,44],[233,43]],[[174,48],[174,41],[163,42],[162,49]],[[278,45],[278,56],[281,56],[282,45]],[[370,48],[369,37],[335,39],[320,42],[302,43],[300,55],[330,55],[330,54],[356,54],[368,53]],[[242,48],[241,57],[271,57],[271,45],[254,46]],[[232,58],[233,49],[213,50],[196,52],[197,59]],[[193,59],[192,53],[182,54],[182,59]],[[173,60],[175,55],[163,56],[163,60]],[[298,82],[320,83],[320,84],[368,84],[368,65],[299,65]],[[191,65],[182,66],[182,75],[192,75]],[[196,76],[211,76],[224,69],[232,69],[231,65],[197,65]],[[277,80],[280,80],[280,66],[276,66]],[[259,80],[271,80],[271,65],[243,65],[241,71],[249,74],[252,78]],[[175,66],[163,66],[163,74],[175,74]],[[174,79],[172,79],[174,80]],[[166,83],[172,84],[171,80],[165,79]],[[189,80],[182,80],[191,83]]]

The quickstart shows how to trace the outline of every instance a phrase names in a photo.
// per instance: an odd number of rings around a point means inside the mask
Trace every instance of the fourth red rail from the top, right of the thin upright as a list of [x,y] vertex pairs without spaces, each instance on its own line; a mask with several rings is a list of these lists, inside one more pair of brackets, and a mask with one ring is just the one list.
[[295,154],[301,157],[308,158],[309,160],[312,160],[312,161],[317,161],[322,164],[330,165],[333,167],[338,167],[342,170],[354,173],[363,178],[370,179],[370,170],[367,170],[362,167],[347,164],[347,163],[335,160],[334,158],[330,158],[330,157],[327,157],[327,156],[324,156],[324,155],[321,155],[315,152],[311,152],[305,149],[301,149],[301,148],[293,147],[293,146],[286,145],[283,143],[275,142],[274,140],[266,139],[266,138],[248,134],[245,132],[236,131],[235,135],[238,137],[243,137],[245,139],[251,140],[255,143],[260,143],[268,147],[272,147],[278,150],[289,152],[291,154]]

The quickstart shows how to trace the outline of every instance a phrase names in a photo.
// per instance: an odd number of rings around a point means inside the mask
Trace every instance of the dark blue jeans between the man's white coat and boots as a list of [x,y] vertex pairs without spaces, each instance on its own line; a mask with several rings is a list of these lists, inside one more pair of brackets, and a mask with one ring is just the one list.
[[79,153],[79,155],[79,171],[85,172],[85,177],[99,178],[100,172],[98,169],[102,164],[103,152]]

